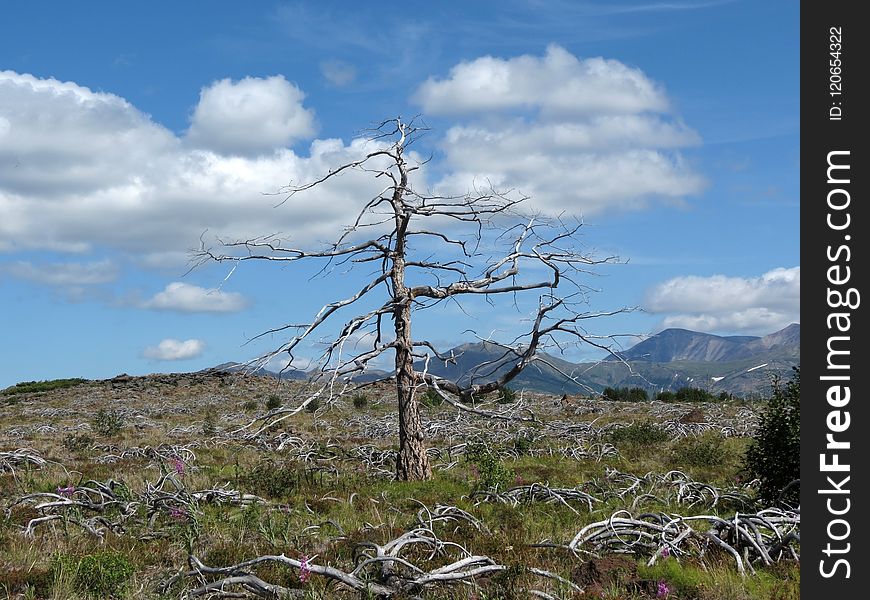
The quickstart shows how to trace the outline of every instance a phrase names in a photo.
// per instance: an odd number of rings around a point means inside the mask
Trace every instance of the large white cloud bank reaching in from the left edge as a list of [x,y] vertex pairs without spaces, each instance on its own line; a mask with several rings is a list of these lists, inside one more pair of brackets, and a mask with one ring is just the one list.
[[165,266],[183,263],[205,231],[312,244],[380,191],[354,171],[280,208],[282,197],[264,195],[358,159],[373,148],[366,140],[226,156],[191,148],[118,96],[11,71],[0,72],[0,115],[0,251],[110,248]]

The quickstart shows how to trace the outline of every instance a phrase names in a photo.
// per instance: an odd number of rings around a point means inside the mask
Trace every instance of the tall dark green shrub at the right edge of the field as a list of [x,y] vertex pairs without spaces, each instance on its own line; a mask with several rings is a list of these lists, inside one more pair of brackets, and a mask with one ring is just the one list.
[[[758,495],[764,502],[797,505],[800,489],[786,486],[800,479],[801,371],[792,378],[773,382],[773,397],[761,415],[758,430],[746,451],[744,468],[751,478],[761,480]],[[780,497],[782,496],[782,497]]]

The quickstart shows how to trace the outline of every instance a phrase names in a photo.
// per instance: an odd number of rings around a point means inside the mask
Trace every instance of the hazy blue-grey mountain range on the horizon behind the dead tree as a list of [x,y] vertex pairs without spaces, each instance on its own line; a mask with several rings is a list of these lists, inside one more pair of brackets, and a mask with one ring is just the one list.
[[[512,365],[510,353],[497,344],[476,342],[457,346],[446,353],[449,362],[431,360],[428,369],[460,383],[485,382]],[[642,387],[651,393],[691,386],[714,393],[741,397],[766,395],[773,376],[788,377],[800,364],[800,325],[793,323],[764,337],[718,336],[687,329],[665,329],[631,348],[603,360],[572,363],[547,353],[534,361],[510,386],[552,394],[599,393],[605,387]],[[417,368],[422,369],[423,364]],[[226,363],[219,370],[241,370]],[[260,370],[258,374],[271,374]],[[386,376],[370,371],[359,381]],[[276,375],[277,376],[277,375]],[[294,371],[286,379],[304,379]]]

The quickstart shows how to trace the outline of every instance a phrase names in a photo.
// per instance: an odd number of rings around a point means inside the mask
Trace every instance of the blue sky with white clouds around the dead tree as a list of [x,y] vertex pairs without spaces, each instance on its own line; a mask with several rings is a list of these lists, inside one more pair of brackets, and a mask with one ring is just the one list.
[[[427,185],[517,188],[628,260],[590,278],[590,309],[645,310],[596,332],[799,322],[796,2],[88,6],[0,9],[0,386],[276,347],[245,342],[364,273],[246,263],[224,281],[226,264],[188,273],[188,250],[204,233],[330,239],[371,182],[280,208],[264,193],[418,113]],[[415,332],[509,339],[522,308],[430,312]]]

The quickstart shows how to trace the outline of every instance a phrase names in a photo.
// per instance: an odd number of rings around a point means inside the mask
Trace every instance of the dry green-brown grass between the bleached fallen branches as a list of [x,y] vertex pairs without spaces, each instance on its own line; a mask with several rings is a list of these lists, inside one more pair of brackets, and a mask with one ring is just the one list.
[[[151,376],[0,396],[0,452],[30,448],[48,461],[41,468],[24,464],[0,472],[3,508],[27,494],[79,488],[88,480],[124,482],[130,494],[139,497],[166,473],[189,492],[224,487],[264,500],[250,506],[199,501],[184,515],[173,516],[168,508],[153,518],[137,513],[123,531],[106,532],[103,540],[76,526],[72,513],[39,525],[33,539],[25,538],[23,528],[39,511],[33,502],[17,504],[0,521],[0,598],[96,597],[88,589],[95,584],[83,583],[80,566],[106,552],[126,557],[132,567],[132,575],[112,592],[123,598],[180,597],[197,582],[184,579],[165,593],[160,589],[188,568],[191,553],[213,567],[283,553],[294,559],[316,556],[317,564],[350,571],[360,542],[384,544],[401,535],[415,526],[421,503],[430,508],[447,504],[474,515],[485,528],[454,524],[439,528],[438,535],[508,567],[471,586],[426,589],[423,598],[524,598],[530,589],[556,598],[651,598],[656,588],[649,582],[659,581],[667,582],[668,597],[677,599],[785,600],[799,595],[796,563],[759,568],[757,575],[742,579],[729,557],[711,549],[700,558],[671,557],[654,567],[645,566],[646,556],[630,556],[625,560],[631,568],[590,580],[579,569],[595,564],[591,557],[536,547],[544,540],[567,543],[584,525],[629,508],[631,497],[604,497],[591,511],[559,503],[476,504],[471,497],[485,475],[462,455],[462,444],[471,439],[484,441],[517,484],[592,490],[604,481],[608,468],[639,475],[680,468],[720,487],[735,486],[744,436],[752,427],[752,410],[745,405],[705,405],[706,421],[685,425],[694,433],[713,430],[705,435],[725,435],[715,438],[722,460],[706,456],[698,464],[692,464],[691,446],[687,454],[687,443],[677,440],[673,429],[680,427],[680,417],[698,408],[694,405],[581,399],[566,409],[556,398],[526,394],[542,423],[522,426],[467,417],[457,421],[452,409],[427,407],[424,416],[435,433],[430,444],[442,451],[433,460],[438,465],[435,478],[393,482],[388,477],[389,455],[386,462],[378,462],[374,453],[389,451],[394,444],[389,388],[367,391],[367,402],[357,401],[357,406],[348,398],[314,414],[300,413],[263,436],[266,443],[230,435],[265,413],[270,397],[291,403],[299,385],[242,375]],[[94,431],[92,419],[100,409],[121,416],[124,426],[118,435],[104,437]],[[667,440],[633,445],[616,441],[618,453],[600,458],[566,454],[572,444],[606,442],[616,428],[649,419],[671,427]],[[92,443],[75,443],[89,436]],[[532,441],[517,443],[521,437]],[[280,440],[288,439],[292,442],[283,450],[274,450]],[[360,458],[363,446],[372,448],[368,459]],[[181,467],[177,457],[184,458]],[[685,464],[674,464],[675,457],[683,457]],[[677,506],[668,498],[661,501],[651,501],[643,509],[681,514],[719,510]],[[450,560],[418,551],[406,558],[427,569]],[[122,567],[116,565],[121,575]],[[536,576],[528,567],[582,582],[585,593]],[[302,582],[299,571],[286,566],[265,565],[256,573],[270,583],[299,590],[305,598],[359,597],[322,577]]]

